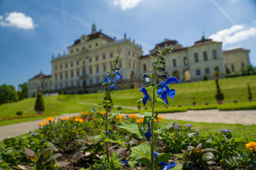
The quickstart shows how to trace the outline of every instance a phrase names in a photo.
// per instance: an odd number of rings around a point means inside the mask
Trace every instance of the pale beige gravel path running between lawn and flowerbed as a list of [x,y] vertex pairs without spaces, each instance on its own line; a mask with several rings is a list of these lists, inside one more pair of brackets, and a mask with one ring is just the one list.
[[[63,114],[60,117],[68,117],[68,115],[79,115],[80,113]],[[123,114],[124,115],[124,114]],[[137,114],[139,117],[143,115]],[[237,111],[219,111],[219,110],[188,110],[179,113],[163,113],[159,114],[166,119],[184,120],[192,122],[209,122],[209,123],[224,123],[224,124],[256,124],[256,110],[237,110]],[[15,137],[29,131],[34,131],[39,126],[39,122],[45,121],[36,120],[31,122],[23,122],[19,124],[5,125],[0,127],[0,141],[8,137]]]

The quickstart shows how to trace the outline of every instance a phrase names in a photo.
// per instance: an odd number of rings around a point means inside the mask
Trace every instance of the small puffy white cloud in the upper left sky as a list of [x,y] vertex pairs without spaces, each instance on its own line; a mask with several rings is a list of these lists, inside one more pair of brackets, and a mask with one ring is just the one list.
[[0,17],[0,25],[3,27],[17,27],[19,29],[35,29],[36,25],[33,19],[26,16],[25,13],[12,12],[6,13],[6,17],[3,20],[3,16]]

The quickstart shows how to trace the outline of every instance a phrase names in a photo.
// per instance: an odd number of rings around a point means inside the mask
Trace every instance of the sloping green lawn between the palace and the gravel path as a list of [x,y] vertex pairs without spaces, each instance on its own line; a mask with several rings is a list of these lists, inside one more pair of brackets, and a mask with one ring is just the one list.
[[[220,81],[221,91],[224,93],[224,103],[222,106],[216,104],[214,98],[216,92],[216,85],[214,80],[209,81],[198,81],[192,83],[180,83],[171,84],[170,88],[176,90],[175,98],[171,99],[168,97],[169,105],[172,108],[177,108],[180,110],[179,105],[182,105],[182,110],[186,111],[188,109],[202,108],[205,107],[205,102],[210,105],[208,108],[218,108],[222,107],[222,110],[227,108],[243,108],[240,105],[252,105],[256,106],[256,103],[248,103],[248,92],[246,83],[250,83],[252,90],[252,96],[256,97],[256,76],[243,76],[236,78],[226,78]],[[138,91],[139,89],[129,89],[129,90],[116,90],[113,94],[113,103],[115,105],[121,106],[133,106],[137,107],[138,103],[135,103],[138,99],[143,97],[143,94]],[[150,94],[151,90],[148,89]],[[50,96],[44,97],[45,101],[45,113],[77,113],[81,111],[91,110],[93,105],[95,108],[100,108],[97,103],[102,103],[102,93],[94,94],[82,94],[82,95],[61,95],[61,96]],[[193,97],[195,97],[196,104],[199,106],[193,107]],[[233,101],[239,101],[239,103],[234,104]],[[93,103],[93,104],[88,104]],[[141,103],[141,109],[145,109]],[[17,103],[8,103],[0,105],[0,117],[14,117],[17,111],[23,111],[24,115],[35,114],[34,111],[35,98],[24,99]],[[149,105],[146,105],[150,108]],[[227,107],[225,107],[227,106]],[[251,109],[255,109],[252,106]],[[223,108],[224,107],[224,108]],[[247,107],[247,106],[246,106]],[[123,108],[127,112],[132,112],[131,109]],[[116,110],[116,108],[114,108]],[[163,104],[157,103],[157,110],[165,110]]]

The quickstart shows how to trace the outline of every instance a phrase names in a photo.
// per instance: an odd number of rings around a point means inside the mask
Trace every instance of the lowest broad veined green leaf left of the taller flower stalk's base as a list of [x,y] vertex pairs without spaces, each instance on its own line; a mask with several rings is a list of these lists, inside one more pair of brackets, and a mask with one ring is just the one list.
[[138,160],[143,157],[150,159],[150,145],[148,143],[141,143],[141,145],[131,148],[130,160]]

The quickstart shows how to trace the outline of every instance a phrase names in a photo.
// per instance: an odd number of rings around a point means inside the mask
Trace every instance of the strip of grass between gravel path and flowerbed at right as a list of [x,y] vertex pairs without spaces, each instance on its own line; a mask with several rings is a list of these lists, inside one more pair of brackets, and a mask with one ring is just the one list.
[[[175,120],[163,119],[161,124],[171,123]],[[193,129],[198,129],[201,132],[209,132],[215,134],[219,132],[220,129],[229,129],[234,139],[237,142],[250,142],[256,141],[256,125],[241,125],[241,124],[217,124],[217,123],[204,123],[204,122],[190,122],[190,121],[180,121],[179,125],[191,124]]]

